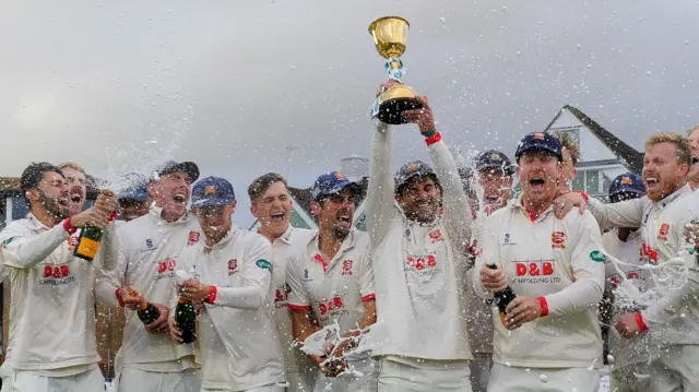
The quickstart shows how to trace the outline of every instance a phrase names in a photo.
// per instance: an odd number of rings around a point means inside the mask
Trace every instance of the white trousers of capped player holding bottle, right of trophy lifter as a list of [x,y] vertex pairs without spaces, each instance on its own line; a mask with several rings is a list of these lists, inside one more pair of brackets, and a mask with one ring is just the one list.
[[494,364],[488,392],[597,392],[600,372],[585,368],[520,368]]

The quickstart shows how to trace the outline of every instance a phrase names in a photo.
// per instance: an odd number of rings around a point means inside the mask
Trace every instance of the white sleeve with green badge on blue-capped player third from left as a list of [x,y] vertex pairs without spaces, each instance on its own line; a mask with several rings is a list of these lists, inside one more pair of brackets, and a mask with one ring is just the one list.
[[254,243],[246,252],[245,269],[240,272],[241,286],[215,288],[213,304],[228,308],[257,310],[264,306],[272,284],[272,243],[256,235]]

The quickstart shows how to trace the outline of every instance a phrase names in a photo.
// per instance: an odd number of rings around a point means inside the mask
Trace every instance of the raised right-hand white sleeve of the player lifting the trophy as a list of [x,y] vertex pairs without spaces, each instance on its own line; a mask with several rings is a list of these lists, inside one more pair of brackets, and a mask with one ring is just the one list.
[[443,141],[427,146],[435,166],[435,173],[442,188],[442,205],[445,229],[452,246],[459,250],[469,247],[473,215],[469,206],[469,199],[463,190],[457,163]]

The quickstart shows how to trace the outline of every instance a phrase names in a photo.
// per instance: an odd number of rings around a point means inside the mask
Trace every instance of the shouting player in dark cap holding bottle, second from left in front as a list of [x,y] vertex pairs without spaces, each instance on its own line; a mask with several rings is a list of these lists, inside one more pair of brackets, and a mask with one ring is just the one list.
[[[199,168],[191,162],[170,161],[153,171],[149,193],[154,203],[149,214],[119,226],[116,266],[97,280],[97,294],[106,305],[128,309],[115,359],[117,392],[200,388],[193,347],[173,342],[167,322],[167,305],[177,297],[179,254],[200,239],[199,223],[187,212],[191,183],[198,177]],[[161,310],[161,317],[145,328],[133,311],[144,299]]]

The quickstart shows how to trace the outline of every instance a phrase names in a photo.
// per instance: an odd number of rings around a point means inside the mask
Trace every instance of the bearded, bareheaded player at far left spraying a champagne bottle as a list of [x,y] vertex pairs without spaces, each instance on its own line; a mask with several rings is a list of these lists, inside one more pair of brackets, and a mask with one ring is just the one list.
[[74,257],[73,248],[79,228],[107,227],[114,194],[104,191],[93,207],[71,216],[60,168],[33,163],[20,183],[31,212],[0,233],[12,287],[2,391],[102,391],[94,266]]

